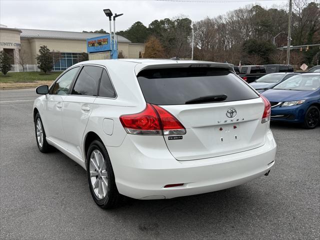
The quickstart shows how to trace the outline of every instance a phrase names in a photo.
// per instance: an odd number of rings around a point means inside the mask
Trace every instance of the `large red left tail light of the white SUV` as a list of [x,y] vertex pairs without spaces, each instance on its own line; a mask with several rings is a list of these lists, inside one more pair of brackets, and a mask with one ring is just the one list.
[[124,130],[137,135],[180,135],[184,126],[170,112],[158,105],[146,103],[143,111],[120,116]]

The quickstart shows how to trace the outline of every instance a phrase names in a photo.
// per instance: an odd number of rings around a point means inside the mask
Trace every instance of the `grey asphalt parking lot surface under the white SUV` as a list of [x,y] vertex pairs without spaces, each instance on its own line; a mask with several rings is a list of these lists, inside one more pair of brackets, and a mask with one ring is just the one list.
[[34,89],[0,91],[1,239],[319,239],[320,127],[271,123],[275,164],[233,188],[95,205],[85,170],[38,151]]

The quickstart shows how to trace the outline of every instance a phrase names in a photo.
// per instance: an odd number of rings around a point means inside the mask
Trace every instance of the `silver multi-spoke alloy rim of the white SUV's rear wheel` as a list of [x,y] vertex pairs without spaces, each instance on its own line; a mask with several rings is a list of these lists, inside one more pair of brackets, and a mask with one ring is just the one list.
[[95,196],[98,199],[103,199],[107,193],[108,181],[104,158],[98,149],[91,152],[89,174]]

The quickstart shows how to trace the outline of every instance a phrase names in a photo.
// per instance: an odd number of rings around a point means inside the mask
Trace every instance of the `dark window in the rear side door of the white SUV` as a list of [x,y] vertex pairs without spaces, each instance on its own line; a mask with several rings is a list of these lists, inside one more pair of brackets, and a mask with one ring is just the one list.
[[71,94],[96,96],[102,69],[99,66],[83,66]]

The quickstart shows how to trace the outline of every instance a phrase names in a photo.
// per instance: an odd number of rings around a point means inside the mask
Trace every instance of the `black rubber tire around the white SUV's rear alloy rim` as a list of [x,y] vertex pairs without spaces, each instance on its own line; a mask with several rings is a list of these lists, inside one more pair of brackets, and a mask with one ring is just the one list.
[[[98,179],[98,177],[100,177],[100,179],[102,179],[102,176],[91,176],[90,175],[91,174],[90,173],[90,164],[92,164],[92,163],[90,163],[90,157],[91,157],[91,154],[94,154],[93,153],[94,150],[98,150],[102,154],[103,159],[104,159],[105,168],[104,168],[104,166],[101,168],[106,170],[105,174],[106,174],[106,180],[107,180],[107,188],[106,188],[106,194],[103,198],[97,196],[97,193],[94,190],[96,188],[93,189],[92,182],[91,182],[91,179],[93,178],[93,180],[94,180],[94,177],[96,177],[96,179]],[[122,202],[123,195],[121,195],[118,192],[118,189],[116,188],[111,161],[110,161],[110,158],[109,158],[109,155],[106,151],[105,146],[103,145],[103,143],[100,140],[94,140],[91,142],[91,144],[89,145],[89,148],[87,150],[86,161],[87,161],[86,172],[87,172],[89,188],[90,188],[90,192],[91,192],[91,195],[92,195],[95,203],[99,207],[104,208],[104,209],[110,209],[110,208],[117,207]],[[93,167],[93,164],[91,165],[91,167]],[[97,172],[98,172],[98,170],[97,170]],[[94,173],[94,174],[96,174],[96,173]],[[94,184],[94,182],[93,182],[93,184]],[[98,189],[96,189],[96,191],[97,190]]]

